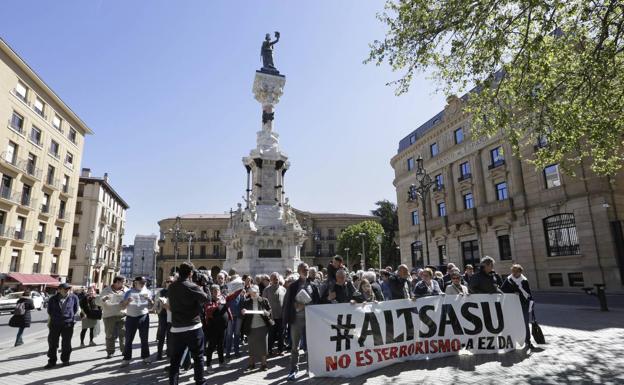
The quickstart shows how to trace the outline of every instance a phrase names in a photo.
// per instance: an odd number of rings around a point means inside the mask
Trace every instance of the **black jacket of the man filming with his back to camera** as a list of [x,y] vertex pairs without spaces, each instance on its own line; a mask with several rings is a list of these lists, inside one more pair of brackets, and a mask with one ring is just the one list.
[[200,313],[208,295],[188,279],[178,279],[167,292],[171,307],[171,327],[193,326],[201,322]]

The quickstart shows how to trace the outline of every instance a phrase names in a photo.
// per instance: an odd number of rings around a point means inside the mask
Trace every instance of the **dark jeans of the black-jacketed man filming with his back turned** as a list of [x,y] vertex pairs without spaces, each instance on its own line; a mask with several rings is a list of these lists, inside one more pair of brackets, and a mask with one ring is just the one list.
[[170,333],[171,349],[169,354],[169,384],[178,385],[180,361],[188,349],[193,357],[193,372],[196,385],[204,384],[204,332],[201,328],[181,333]]

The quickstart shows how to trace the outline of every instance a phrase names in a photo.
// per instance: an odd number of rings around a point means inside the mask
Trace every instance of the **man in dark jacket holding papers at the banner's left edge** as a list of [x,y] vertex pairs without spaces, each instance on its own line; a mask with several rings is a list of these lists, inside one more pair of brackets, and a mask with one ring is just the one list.
[[305,308],[321,301],[318,287],[308,279],[310,268],[302,262],[297,267],[299,279],[292,282],[284,298],[283,322],[290,327],[290,370],[287,380],[294,381],[299,371],[299,343],[305,336]]

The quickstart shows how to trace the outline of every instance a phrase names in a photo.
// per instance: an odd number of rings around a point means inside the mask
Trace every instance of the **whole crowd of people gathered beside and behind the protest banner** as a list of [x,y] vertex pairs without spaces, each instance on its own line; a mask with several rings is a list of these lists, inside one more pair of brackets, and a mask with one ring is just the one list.
[[[246,371],[266,371],[268,357],[290,353],[287,380],[294,380],[299,373],[300,353],[306,350],[306,306],[471,293],[517,293],[526,324],[525,349],[530,349],[528,324],[533,300],[529,282],[522,273],[522,266],[515,264],[511,274],[503,279],[494,271],[490,257],[482,258],[476,272],[471,265],[461,272],[453,263],[446,266],[445,274],[435,267],[410,271],[407,265],[396,270],[387,267],[350,272],[342,258],[335,256],[322,269],[301,263],[297,271],[288,270],[284,275],[274,272],[252,277],[230,270],[221,271],[214,279],[184,262],[177,275],[167,277],[155,294],[147,289],[143,277],[136,277],[129,288],[123,277],[116,277],[101,293],[89,288],[81,298],[72,293],[69,284],[63,283],[47,308],[49,349],[45,368],[57,364],[60,340],[62,365],[70,364],[76,322],[82,322],[81,347],[86,346],[87,332],[89,345],[95,345],[93,339],[99,332],[100,320],[104,324],[106,358],[114,357],[119,348],[123,355],[121,366],[128,366],[138,331],[141,359],[150,364],[149,314],[155,312],[156,360],[169,360],[170,384],[178,383],[181,369],[191,367],[195,383],[204,384],[205,373],[227,368],[232,356],[241,356],[241,346],[245,344]],[[33,306],[27,296],[26,293],[18,301],[20,310],[11,321],[11,326],[19,328],[16,345],[23,343],[24,328],[30,324]],[[213,365],[215,353],[218,366]]]

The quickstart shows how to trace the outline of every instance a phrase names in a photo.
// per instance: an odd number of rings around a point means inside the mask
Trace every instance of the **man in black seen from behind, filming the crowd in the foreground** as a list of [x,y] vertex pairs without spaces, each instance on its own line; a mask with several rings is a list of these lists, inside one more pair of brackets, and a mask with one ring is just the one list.
[[209,301],[210,294],[192,282],[194,269],[195,266],[192,263],[182,262],[178,270],[180,275],[169,285],[167,292],[171,310],[170,385],[178,385],[180,363],[186,350],[193,357],[195,384],[206,383],[204,380],[205,339],[200,313],[204,304]]

